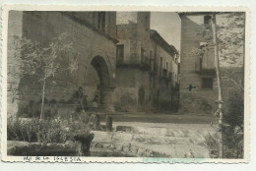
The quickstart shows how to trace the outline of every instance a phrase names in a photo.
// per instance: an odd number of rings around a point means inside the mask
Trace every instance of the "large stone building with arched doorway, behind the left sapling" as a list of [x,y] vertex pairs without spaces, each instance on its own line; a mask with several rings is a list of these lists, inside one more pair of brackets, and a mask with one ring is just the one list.
[[[88,101],[99,96],[99,105],[113,110],[111,94],[115,83],[116,13],[115,12],[40,12],[10,11],[8,24],[8,113],[28,113],[39,103],[42,85],[34,78],[21,76],[20,64],[12,50],[15,36],[47,45],[53,37],[66,32],[73,43],[72,54],[78,70],[56,73],[55,85],[46,82],[45,98],[68,105],[80,86]],[[61,67],[67,68],[69,56],[63,56]],[[18,93],[14,86],[18,85]]]

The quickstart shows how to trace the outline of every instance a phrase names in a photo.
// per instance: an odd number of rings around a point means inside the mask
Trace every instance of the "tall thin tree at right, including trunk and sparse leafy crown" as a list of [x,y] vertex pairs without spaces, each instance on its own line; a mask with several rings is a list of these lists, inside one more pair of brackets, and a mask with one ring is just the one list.
[[[219,126],[221,132],[220,139],[220,157],[224,157],[224,144],[223,144],[223,88],[222,88],[222,75],[220,70],[220,60],[229,64],[237,64],[241,56],[244,58],[244,28],[245,28],[245,15],[244,13],[212,13],[212,27],[203,25],[202,30],[198,30],[198,34],[203,36],[207,41],[207,45],[192,49],[192,53],[203,56],[207,51],[213,47],[215,51],[215,69],[217,75],[218,85],[218,110],[215,115],[219,116]],[[226,23],[221,26],[217,25],[217,15],[223,15],[226,18]]]

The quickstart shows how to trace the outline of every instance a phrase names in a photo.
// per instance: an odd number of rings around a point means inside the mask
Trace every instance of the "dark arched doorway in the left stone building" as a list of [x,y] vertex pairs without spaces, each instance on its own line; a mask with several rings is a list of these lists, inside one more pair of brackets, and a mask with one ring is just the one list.
[[[109,65],[101,56],[95,56],[90,64],[96,71],[96,95],[98,96],[98,108],[104,112],[114,112],[112,105],[112,73]],[[90,74],[90,73],[89,73]]]

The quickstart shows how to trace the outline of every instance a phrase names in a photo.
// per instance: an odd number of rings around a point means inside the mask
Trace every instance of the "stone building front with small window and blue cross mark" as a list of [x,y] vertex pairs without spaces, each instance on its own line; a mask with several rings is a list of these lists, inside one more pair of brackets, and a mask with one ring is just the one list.
[[[217,97],[214,49],[208,46],[203,30],[211,27],[211,14],[180,13],[180,103],[185,111],[212,112]],[[204,27],[203,27],[204,26]],[[201,32],[201,33],[200,33]],[[207,47],[197,55],[193,50]],[[189,90],[189,86],[193,87]]]

